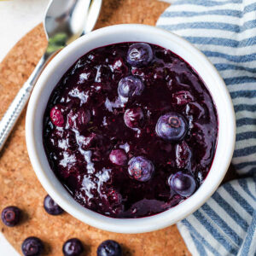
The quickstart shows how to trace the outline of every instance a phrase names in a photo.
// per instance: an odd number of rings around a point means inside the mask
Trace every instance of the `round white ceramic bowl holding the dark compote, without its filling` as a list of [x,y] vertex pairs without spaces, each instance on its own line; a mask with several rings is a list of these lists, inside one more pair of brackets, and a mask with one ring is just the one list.
[[[218,145],[211,171],[201,187],[176,207],[146,218],[108,218],[79,205],[49,167],[43,146],[43,116],[49,96],[67,69],[91,49],[122,42],[148,42],[171,49],[195,68],[207,84],[218,111]],[[73,217],[102,230],[143,233],[159,230],[195,212],[218,188],[230,166],[236,135],[235,113],[230,94],[215,67],[192,44],[154,26],[118,25],[90,32],[69,44],[50,61],[38,79],[26,113],[26,145],[39,181],[49,195]]]

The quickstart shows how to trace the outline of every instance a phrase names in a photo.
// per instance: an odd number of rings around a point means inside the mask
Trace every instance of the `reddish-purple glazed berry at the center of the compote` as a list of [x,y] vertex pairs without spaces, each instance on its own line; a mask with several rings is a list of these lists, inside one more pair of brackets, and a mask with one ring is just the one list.
[[129,108],[125,111],[125,125],[129,128],[137,128],[143,124],[144,114],[142,108]]

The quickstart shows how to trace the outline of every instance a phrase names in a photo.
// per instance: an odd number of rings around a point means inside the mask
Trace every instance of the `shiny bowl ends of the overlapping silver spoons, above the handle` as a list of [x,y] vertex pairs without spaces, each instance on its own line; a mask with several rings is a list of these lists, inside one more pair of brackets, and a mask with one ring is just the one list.
[[96,24],[101,6],[102,0],[51,1],[44,19],[44,31],[49,40],[47,52],[58,47],[61,49],[90,32]]

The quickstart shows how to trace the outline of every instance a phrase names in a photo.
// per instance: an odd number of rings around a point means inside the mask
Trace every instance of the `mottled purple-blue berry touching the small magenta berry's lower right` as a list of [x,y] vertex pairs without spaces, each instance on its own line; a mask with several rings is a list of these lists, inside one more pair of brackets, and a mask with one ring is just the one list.
[[137,181],[147,182],[154,175],[154,165],[151,160],[136,156],[129,161],[128,172]]

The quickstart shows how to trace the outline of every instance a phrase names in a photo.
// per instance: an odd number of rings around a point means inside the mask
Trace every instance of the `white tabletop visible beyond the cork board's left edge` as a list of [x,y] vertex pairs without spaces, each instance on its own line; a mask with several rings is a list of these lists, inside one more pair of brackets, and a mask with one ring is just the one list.
[[[44,10],[48,3],[49,0],[0,1],[0,62],[26,32],[29,32],[43,20]],[[2,211],[1,204],[0,210]],[[20,245],[21,243],[22,241],[20,241]],[[19,255],[1,232],[0,255]]]

